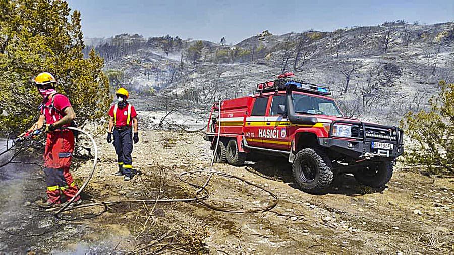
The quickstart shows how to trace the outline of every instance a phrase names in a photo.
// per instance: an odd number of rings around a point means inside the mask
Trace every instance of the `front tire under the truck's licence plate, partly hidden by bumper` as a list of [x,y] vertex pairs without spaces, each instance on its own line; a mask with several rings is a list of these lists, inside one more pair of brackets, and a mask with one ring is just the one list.
[[389,182],[392,177],[392,171],[392,162],[382,161],[363,166],[353,175],[358,182],[364,185],[380,188]]

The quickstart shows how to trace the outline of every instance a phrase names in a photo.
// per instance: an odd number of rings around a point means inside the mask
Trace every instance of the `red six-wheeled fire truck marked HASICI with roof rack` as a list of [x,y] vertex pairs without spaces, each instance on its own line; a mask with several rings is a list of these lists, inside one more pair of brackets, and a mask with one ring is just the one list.
[[403,130],[346,118],[330,94],[292,73],[279,75],[258,84],[253,96],[214,103],[205,140],[213,150],[218,144],[217,162],[235,166],[251,152],[285,156],[306,192],[323,192],[341,173],[384,186],[404,151]]

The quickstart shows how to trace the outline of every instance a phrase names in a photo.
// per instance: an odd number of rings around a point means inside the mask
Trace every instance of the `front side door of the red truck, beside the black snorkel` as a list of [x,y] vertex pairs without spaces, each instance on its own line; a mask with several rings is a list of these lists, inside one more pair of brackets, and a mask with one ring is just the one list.
[[266,148],[288,151],[290,121],[277,113],[279,105],[286,105],[286,95],[273,95],[271,107],[264,120],[266,128],[262,131],[265,134],[262,136],[262,142]]

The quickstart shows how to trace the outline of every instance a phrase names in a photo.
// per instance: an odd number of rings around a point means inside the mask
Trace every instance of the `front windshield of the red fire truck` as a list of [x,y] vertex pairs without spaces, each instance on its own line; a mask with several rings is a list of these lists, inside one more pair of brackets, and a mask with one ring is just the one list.
[[296,93],[292,97],[296,113],[343,117],[333,100]]

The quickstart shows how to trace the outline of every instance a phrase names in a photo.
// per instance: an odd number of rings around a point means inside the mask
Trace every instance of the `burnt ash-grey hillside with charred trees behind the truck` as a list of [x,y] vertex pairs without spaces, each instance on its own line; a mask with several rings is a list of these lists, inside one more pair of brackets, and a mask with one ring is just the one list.
[[106,70],[121,72],[113,86],[173,95],[176,104],[196,107],[253,93],[257,82],[293,71],[298,79],[331,87],[346,115],[396,123],[423,109],[439,80],[454,79],[454,22],[264,31],[233,46],[169,35],[88,41],[86,52],[94,47],[106,58]]

